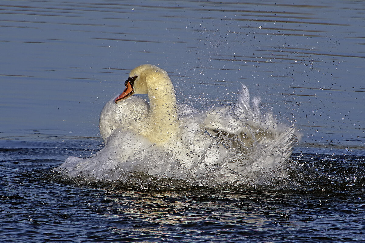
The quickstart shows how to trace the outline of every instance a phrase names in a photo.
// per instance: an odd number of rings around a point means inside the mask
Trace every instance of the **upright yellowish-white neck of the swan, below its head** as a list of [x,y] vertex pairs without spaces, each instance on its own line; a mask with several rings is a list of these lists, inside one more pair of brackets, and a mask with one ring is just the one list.
[[150,112],[147,137],[151,142],[162,144],[176,136],[177,108],[172,82],[166,72],[154,72],[146,77]]

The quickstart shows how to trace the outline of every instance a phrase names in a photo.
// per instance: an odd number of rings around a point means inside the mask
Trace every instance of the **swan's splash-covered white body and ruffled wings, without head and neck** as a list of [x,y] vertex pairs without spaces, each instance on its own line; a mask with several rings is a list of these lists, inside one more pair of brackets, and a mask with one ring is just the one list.
[[242,85],[233,107],[185,110],[178,118],[178,136],[160,146],[130,130],[131,118],[124,115],[114,122],[118,127],[111,129],[103,149],[91,158],[69,157],[56,171],[91,181],[143,183],[155,177],[155,183],[173,180],[210,187],[286,178],[283,166],[296,141],[295,128],[278,124],[270,111],[261,111],[260,104],[261,99],[250,99]]

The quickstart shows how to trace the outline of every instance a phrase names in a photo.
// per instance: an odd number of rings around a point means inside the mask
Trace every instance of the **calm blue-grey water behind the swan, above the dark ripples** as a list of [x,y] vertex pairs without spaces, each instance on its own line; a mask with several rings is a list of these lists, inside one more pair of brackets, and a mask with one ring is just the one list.
[[55,129],[98,136],[104,103],[123,90],[129,70],[151,63],[169,72],[183,103],[234,102],[243,82],[296,121],[304,135],[298,149],[361,153],[364,8],[361,1],[3,1],[1,137]]

